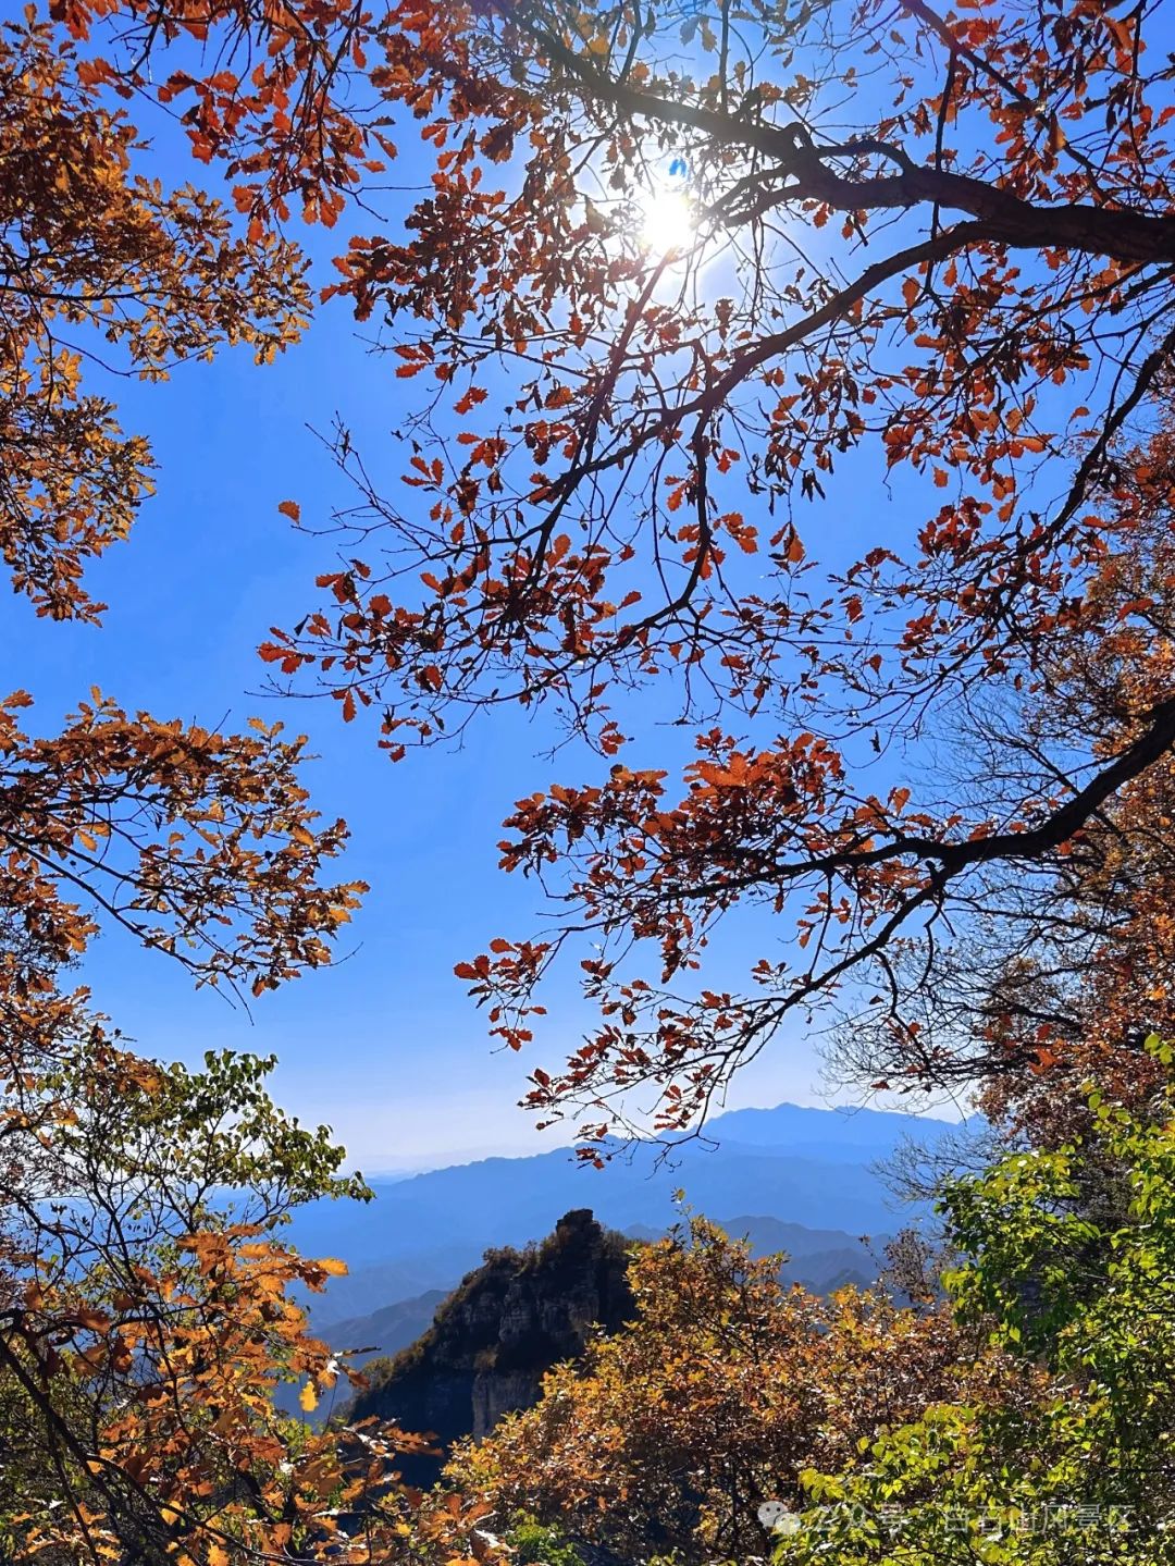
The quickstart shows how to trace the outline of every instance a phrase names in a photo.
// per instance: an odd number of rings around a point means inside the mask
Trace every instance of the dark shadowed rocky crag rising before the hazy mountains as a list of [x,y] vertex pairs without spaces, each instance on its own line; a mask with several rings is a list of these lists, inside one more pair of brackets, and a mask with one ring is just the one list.
[[[593,1326],[615,1331],[632,1315],[626,1267],[631,1242],[591,1212],[568,1212],[541,1245],[487,1251],[485,1262],[438,1306],[429,1331],[385,1364],[350,1411],[402,1430],[432,1431],[447,1447],[485,1436],[529,1408],[543,1372],[579,1355]],[[430,1483],[440,1460],[408,1458],[410,1483]]]

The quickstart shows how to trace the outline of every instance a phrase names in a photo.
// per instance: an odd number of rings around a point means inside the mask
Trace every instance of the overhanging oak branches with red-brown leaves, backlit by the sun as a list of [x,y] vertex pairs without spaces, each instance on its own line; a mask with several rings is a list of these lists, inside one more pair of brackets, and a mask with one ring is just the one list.
[[[1166,550],[1130,500],[1175,346],[1161,9],[369,19],[429,185],[329,291],[386,329],[405,460],[340,431],[338,567],[263,656],[372,708],[393,756],[507,702],[602,755],[507,821],[554,930],[458,969],[521,1048],[579,958],[599,1026],[535,1073],[540,1112],[679,1129],[829,999],[876,1023],[867,1082],[1008,1065],[970,1009],[928,1038],[920,996],[1175,739],[1162,680],[1095,734],[1053,689],[1075,648],[1164,634],[1108,590]],[[681,760],[646,733],[667,706]],[[735,910],[785,951],[707,983]]]

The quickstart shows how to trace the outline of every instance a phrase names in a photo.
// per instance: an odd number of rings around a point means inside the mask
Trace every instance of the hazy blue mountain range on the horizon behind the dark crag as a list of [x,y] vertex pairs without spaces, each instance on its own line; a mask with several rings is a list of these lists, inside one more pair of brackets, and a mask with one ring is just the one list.
[[907,1138],[934,1145],[954,1129],[868,1109],[734,1110],[717,1117],[704,1140],[668,1156],[648,1143],[616,1148],[602,1170],[559,1148],[372,1181],[374,1201],[313,1203],[296,1217],[291,1239],[304,1254],[338,1256],[350,1268],[313,1301],[322,1323],[449,1289],[487,1248],[526,1245],[573,1207],[590,1207],[612,1229],[663,1232],[679,1217],[677,1190],[715,1218],[754,1214],[748,1223],[835,1231],[828,1243],[796,1247],[793,1234],[762,1248],[782,1248],[796,1259],[801,1250],[840,1250],[846,1272],[857,1272],[857,1237],[892,1234],[906,1221],[873,1165]]

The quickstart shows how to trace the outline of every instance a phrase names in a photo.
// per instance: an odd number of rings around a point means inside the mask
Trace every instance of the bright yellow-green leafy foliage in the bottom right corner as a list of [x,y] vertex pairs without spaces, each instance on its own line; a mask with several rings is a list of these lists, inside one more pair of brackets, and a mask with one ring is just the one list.
[[[1148,1045],[1169,1068],[1170,1049]],[[1020,1361],[1029,1395],[936,1405],[862,1447],[856,1472],[809,1470],[781,1566],[829,1553],[854,1566],[1175,1558],[1170,1088],[1147,1121],[1097,1090],[1089,1102],[1084,1135],[1009,1154],[943,1193],[962,1253],[947,1279],[956,1314]],[[1117,1207],[1087,1198],[1106,1164]]]

